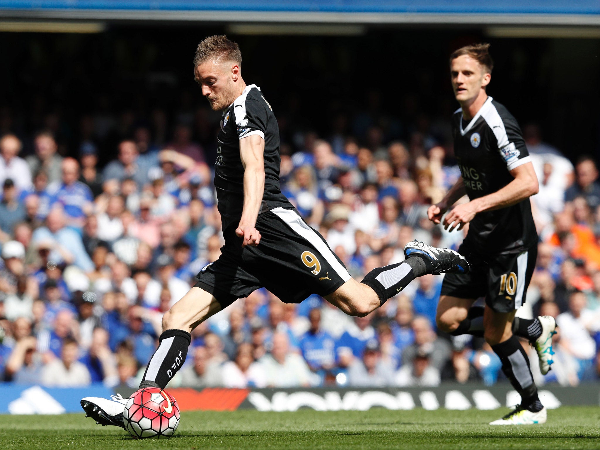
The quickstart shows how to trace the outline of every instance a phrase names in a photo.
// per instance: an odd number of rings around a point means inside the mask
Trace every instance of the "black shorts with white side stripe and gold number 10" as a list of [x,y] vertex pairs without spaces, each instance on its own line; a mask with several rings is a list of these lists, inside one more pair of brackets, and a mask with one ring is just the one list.
[[467,259],[471,269],[466,275],[446,274],[442,295],[485,297],[485,303],[498,313],[509,313],[524,304],[538,256],[537,246],[521,253],[482,255],[463,242],[458,253]]

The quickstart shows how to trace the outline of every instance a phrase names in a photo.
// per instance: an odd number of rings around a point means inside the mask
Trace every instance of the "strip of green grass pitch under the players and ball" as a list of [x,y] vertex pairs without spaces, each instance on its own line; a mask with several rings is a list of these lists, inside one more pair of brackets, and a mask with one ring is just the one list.
[[171,439],[133,440],[83,414],[0,416],[1,449],[598,449],[600,407],[561,407],[548,424],[490,427],[508,410],[184,412]]

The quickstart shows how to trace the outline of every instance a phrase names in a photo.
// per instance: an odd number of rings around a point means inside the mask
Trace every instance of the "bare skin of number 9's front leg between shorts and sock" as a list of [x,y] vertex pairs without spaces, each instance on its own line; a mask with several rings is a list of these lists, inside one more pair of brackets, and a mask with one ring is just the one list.
[[164,314],[163,331],[182,329],[191,332],[220,310],[220,302],[211,293],[194,286]]

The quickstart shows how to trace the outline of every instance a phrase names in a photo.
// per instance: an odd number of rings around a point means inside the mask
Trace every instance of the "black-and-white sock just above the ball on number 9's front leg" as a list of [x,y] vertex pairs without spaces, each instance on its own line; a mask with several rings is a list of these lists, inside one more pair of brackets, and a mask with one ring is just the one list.
[[191,334],[181,329],[167,329],[163,331],[158,341],[160,344],[148,362],[140,389],[165,388],[184,364],[191,343]]

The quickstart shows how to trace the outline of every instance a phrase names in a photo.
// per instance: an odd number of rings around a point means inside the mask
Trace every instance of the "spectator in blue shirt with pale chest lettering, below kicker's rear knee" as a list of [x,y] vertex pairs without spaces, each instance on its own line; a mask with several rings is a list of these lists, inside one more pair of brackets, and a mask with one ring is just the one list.
[[310,329],[300,338],[300,350],[308,367],[322,378],[335,365],[335,341],[321,329],[321,310],[314,308],[308,313]]

